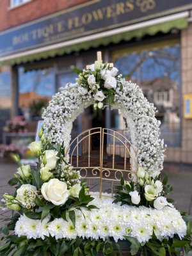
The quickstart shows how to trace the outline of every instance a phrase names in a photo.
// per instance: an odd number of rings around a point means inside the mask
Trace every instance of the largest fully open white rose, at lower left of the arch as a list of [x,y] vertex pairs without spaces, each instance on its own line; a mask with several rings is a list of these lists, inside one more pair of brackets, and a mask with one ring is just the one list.
[[65,204],[70,192],[67,190],[67,184],[58,179],[51,179],[45,182],[41,188],[45,200],[52,202],[54,205]]

